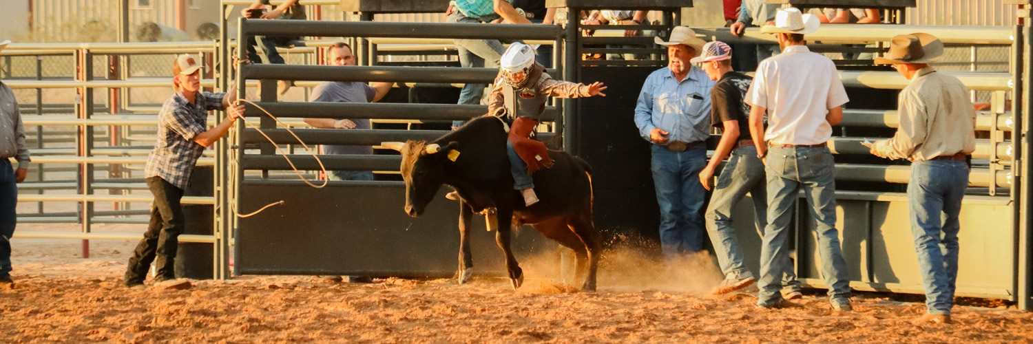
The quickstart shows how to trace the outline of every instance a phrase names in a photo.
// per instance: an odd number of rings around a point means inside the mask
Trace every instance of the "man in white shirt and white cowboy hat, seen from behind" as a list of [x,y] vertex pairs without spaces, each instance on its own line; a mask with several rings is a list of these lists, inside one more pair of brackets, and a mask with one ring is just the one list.
[[768,176],[768,227],[760,251],[758,307],[786,303],[779,293],[782,275],[792,269],[786,237],[792,206],[803,189],[816,222],[821,274],[833,308],[851,310],[846,261],[836,229],[836,166],[825,146],[849,99],[836,65],[811,53],[804,42],[804,34],[816,31],[819,25],[814,15],[786,8],[778,11],[775,25],[761,27],[760,32],[778,35],[782,54],[760,62],[746,94],[746,102],[752,105],[750,134],[754,143],[763,143],[756,148]]

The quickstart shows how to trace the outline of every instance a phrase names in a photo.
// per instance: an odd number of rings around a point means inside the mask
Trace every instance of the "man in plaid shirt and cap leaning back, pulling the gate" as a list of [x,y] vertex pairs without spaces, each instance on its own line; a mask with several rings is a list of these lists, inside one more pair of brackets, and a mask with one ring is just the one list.
[[[190,181],[205,148],[212,146],[229,131],[244,114],[237,101],[236,88],[228,93],[200,92],[200,64],[191,55],[180,55],[173,64],[173,87],[176,94],[165,100],[158,113],[158,140],[147,159],[144,177],[154,194],[151,222],[144,240],[136,245],[125,283],[130,288],[143,288],[151,261],[157,258],[158,282],[176,279],[174,260],[177,238],[183,231],[183,207],[180,199]],[[208,112],[228,110],[229,117],[208,128]]]

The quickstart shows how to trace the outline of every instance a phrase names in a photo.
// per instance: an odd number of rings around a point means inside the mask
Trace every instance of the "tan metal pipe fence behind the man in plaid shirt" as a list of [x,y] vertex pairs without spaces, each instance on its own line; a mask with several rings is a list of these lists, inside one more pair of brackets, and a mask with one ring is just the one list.
[[[35,104],[22,104],[23,110],[29,110],[23,112],[23,122],[32,152],[33,174],[30,181],[19,185],[22,190],[19,201],[39,205],[35,213],[19,214],[19,222],[72,223],[79,224],[81,228],[75,232],[19,231],[14,238],[81,239],[84,257],[89,256],[89,240],[142,238],[139,232],[96,233],[93,232],[93,224],[147,223],[147,215],[150,213],[147,206],[140,210],[131,208],[133,205],[148,205],[153,198],[146,191],[138,192],[147,188],[139,171],[147,161],[147,154],[153,149],[153,138],[138,139],[142,137],[129,134],[134,132],[134,127],[155,126],[156,113],[160,106],[139,106],[133,103],[130,101],[129,90],[170,88],[171,82],[170,77],[130,76],[117,71],[128,69],[126,67],[136,62],[140,56],[191,53],[202,59],[207,57],[206,64],[211,64],[211,56],[216,46],[212,41],[8,45],[3,52],[8,65],[11,59],[37,60],[34,74],[12,73],[4,80],[15,92],[36,93]],[[67,65],[68,72],[57,73],[56,76],[44,75],[39,63],[48,57],[72,57],[72,60],[67,61],[70,62]],[[97,64],[102,64],[107,72],[99,75],[94,73]],[[165,69],[167,68],[163,68]],[[211,88],[215,84],[212,80],[206,80],[202,86]],[[43,94],[57,90],[75,90],[75,102],[44,105]],[[107,94],[104,98],[97,99],[95,91],[100,90]],[[153,137],[154,131],[147,131]],[[214,155],[206,153],[199,164],[212,165]],[[105,177],[99,178],[98,175]],[[134,176],[137,178],[133,178]],[[68,194],[69,190],[74,194]],[[48,211],[44,205],[50,204],[74,204],[76,211]],[[109,204],[111,210],[101,209],[101,204]],[[185,197],[184,204],[214,205],[214,198]],[[214,236],[190,236],[184,241],[212,243]]]

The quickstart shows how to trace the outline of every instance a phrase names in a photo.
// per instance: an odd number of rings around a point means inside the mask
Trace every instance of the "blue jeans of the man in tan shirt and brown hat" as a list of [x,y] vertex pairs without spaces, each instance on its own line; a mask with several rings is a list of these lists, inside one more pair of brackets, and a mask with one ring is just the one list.
[[[911,233],[926,286],[929,314],[950,314],[958,279],[958,214],[968,187],[965,161],[930,160],[911,163],[907,186]],[[941,219],[941,213],[946,216]],[[943,224],[942,226],[940,224]]]

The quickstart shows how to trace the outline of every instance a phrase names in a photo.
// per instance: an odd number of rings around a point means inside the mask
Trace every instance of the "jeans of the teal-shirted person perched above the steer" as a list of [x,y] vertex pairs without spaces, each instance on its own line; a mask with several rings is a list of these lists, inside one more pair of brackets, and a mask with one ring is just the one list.
[[[452,11],[445,19],[446,23],[480,23],[480,20],[463,15],[459,10]],[[456,39],[456,51],[459,52],[459,64],[463,67],[498,68],[499,59],[505,48],[498,39]],[[484,95],[484,84],[466,84],[459,93],[458,104],[480,103]],[[452,126],[461,126],[464,121],[453,121]]]

